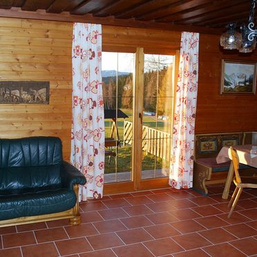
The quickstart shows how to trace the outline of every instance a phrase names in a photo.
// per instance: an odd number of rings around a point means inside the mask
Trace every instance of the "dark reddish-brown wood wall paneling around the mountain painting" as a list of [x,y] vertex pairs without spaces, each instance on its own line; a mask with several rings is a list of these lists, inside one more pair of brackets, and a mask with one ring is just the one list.
[[196,108],[196,133],[255,131],[256,95],[220,95],[221,60],[254,60],[251,54],[222,50],[218,35],[200,35],[199,83]]

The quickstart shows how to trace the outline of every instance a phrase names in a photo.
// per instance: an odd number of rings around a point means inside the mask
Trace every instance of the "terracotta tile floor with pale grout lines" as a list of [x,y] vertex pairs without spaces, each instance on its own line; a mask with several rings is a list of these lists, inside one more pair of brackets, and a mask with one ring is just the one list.
[[80,204],[68,220],[0,228],[0,256],[257,256],[257,190],[242,193],[227,218],[223,187],[209,196],[159,189]]

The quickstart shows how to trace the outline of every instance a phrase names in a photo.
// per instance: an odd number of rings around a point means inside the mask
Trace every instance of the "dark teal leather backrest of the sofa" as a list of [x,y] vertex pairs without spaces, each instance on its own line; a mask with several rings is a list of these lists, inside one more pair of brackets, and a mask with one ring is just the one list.
[[61,162],[58,137],[0,139],[0,190],[60,184]]

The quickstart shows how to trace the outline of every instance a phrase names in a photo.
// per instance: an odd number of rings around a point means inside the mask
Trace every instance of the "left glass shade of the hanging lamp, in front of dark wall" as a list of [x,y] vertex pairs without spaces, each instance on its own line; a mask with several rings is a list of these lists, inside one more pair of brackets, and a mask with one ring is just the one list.
[[220,37],[220,46],[227,50],[239,49],[242,44],[242,35],[230,28]]

